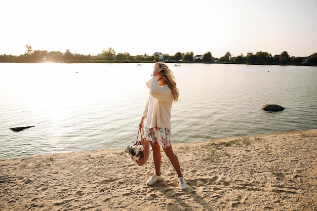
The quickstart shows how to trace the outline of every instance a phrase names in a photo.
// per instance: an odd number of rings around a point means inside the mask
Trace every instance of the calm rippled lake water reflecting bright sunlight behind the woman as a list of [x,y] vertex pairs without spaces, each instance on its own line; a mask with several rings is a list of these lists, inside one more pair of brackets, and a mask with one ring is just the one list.
[[[174,143],[317,128],[317,67],[172,65],[181,94]],[[136,139],[152,67],[0,63],[0,159],[125,148]],[[269,103],[286,109],[263,111]]]

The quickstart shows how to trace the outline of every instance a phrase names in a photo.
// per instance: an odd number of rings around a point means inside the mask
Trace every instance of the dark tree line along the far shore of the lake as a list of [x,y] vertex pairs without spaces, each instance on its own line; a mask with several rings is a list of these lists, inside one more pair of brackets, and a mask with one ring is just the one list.
[[[32,50],[30,45],[25,46],[26,51],[20,56],[0,55],[0,62],[11,63],[96,63],[96,62],[153,62],[162,61],[159,56],[144,55],[131,56],[129,53],[118,53],[112,48],[102,50],[97,56],[72,54],[71,52],[61,53],[59,51],[39,51]],[[226,52],[224,56],[215,58],[210,52],[205,53],[202,57],[195,58],[193,52],[181,53],[175,55],[164,54],[164,62],[186,62],[186,63],[231,63],[231,64],[251,64],[251,65],[317,65],[317,53],[307,58],[290,56],[286,51],[280,55],[272,56],[267,52],[247,53],[231,57],[230,52]]]

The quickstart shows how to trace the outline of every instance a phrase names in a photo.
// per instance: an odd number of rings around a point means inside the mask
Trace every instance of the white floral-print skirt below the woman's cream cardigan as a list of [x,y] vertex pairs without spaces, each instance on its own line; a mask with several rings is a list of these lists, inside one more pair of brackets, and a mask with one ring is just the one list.
[[145,127],[145,139],[157,142],[160,146],[166,148],[172,145],[172,134],[171,129],[159,128],[155,126],[154,128]]

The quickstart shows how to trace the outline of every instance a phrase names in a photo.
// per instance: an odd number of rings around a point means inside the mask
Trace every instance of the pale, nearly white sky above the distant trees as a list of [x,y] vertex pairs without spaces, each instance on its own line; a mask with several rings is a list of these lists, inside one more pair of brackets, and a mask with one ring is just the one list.
[[0,55],[317,52],[317,0],[10,0],[0,3]]

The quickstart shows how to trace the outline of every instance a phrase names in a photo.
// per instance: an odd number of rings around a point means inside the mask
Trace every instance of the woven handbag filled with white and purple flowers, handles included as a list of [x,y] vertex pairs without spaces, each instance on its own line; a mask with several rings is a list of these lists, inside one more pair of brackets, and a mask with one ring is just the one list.
[[[141,141],[138,141],[140,132]],[[144,131],[142,128],[140,128],[136,143],[133,143],[133,145],[129,145],[127,147],[127,149],[125,150],[126,155],[130,157],[131,162],[136,162],[139,166],[142,166],[148,159],[149,151],[149,142],[144,138]]]

